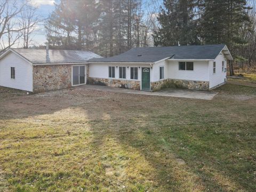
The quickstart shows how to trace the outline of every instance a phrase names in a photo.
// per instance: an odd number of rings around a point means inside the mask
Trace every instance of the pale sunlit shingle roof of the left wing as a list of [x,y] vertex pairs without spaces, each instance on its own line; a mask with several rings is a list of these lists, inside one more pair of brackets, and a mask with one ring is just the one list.
[[[12,49],[32,63],[46,63],[46,50],[42,49]],[[49,50],[51,62],[87,62],[91,58],[101,58],[90,51]]]

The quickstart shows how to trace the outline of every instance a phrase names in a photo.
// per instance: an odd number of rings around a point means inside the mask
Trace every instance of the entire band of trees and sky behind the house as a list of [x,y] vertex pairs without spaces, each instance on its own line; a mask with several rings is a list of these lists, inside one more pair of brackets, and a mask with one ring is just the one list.
[[[44,29],[51,49],[91,50],[103,57],[132,47],[226,44],[233,66],[256,66],[256,1],[56,1],[49,17],[27,0],[0,1],[0,46],[28,48]],[[41,26],[40,26],[41,25]]]

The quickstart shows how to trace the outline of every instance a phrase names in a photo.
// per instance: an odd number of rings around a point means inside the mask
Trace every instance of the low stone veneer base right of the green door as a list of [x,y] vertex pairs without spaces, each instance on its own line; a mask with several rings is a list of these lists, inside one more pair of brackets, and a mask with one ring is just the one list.
[[209,90],[208,81],[190,81],[180,79],[164,79],[158,82],[151,82],[151,91],[158,91],[167,87],[177,87],[190,90]]

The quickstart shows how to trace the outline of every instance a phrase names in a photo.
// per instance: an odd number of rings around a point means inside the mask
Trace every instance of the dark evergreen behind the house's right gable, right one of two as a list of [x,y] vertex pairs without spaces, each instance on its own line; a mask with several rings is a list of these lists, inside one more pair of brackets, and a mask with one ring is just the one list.
[[[246,0],[205,0],[202,17],[203,43],[226,44],[231,54],[247,44],[240,34],[243,23],[250,29],[250,18],[247,14]],[[230,62],[230,75],[234,74],[233,63]]]

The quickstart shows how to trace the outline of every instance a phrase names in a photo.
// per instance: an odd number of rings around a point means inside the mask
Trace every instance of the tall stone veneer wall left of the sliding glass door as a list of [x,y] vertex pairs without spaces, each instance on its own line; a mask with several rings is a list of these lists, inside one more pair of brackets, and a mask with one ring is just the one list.
[[33,68],[34,92],[71,87],[71,65],[44,65]]

